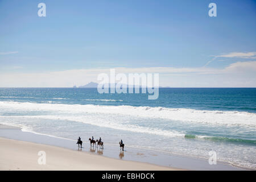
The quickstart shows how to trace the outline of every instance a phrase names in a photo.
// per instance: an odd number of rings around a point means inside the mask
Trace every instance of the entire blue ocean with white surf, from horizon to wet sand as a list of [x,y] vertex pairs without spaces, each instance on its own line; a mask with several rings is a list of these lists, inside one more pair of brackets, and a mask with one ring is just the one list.
[[209,158],[256,169],[256,88],[159,88],[99,94],[96,88],[0,88],[0,123],[76,140]]

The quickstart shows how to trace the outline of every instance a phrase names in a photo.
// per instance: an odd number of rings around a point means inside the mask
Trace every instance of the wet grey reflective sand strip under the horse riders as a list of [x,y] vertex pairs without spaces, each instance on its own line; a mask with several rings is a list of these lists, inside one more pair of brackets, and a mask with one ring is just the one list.
[[[77,145],[75,140],[49,137],[48,135],[44,134],[41,135],[30,133],[27,131],[22,131],[20,127],[15,126],[0,125],[0,137],[13,139],[18,143],[24,141],[30,143],[32,142],[34,144],[44,144],[49,147],[60,147],[65,150],[77,152]],[[107,145],[105,146],[104,150],[99,150],[96,147],[89,148],[89,143],[86,141],[83,143],[83,148],[81,151],[85,155],[97,155],[100,157],[113,160],[121,160],[124,162],[138,162],[160,166],[163,168],[170,168],[168,170],[253,170],[249,168],[231,166],[230,164],[218,163],[218,161],[217,165],[209,165],[208,160],[205,159],[162,154],[157,151],[143,149],[139,150],[132,147],[126,147],[126,150],[123,153],[119,151],[119,146],[112,145]]]

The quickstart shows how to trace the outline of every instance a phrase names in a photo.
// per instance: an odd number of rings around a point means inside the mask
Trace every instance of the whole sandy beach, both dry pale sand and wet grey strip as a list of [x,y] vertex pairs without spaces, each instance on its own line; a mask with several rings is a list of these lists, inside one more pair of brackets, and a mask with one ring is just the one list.
[[[188,156],[164,154],[143,148],[105,144],[104,150],[89,147],[82,150],[76,140],[50,137],[22,131],[20,127],[0,125],[0,170],[242,170],[218,162]],[[46,152],[46,165],[39,165],[39,151]]]

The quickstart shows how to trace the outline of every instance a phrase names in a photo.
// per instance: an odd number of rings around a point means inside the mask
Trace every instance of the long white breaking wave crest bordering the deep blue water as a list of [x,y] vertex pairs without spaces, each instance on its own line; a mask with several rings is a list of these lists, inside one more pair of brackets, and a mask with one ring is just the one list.
[[130,115],[137,118],[161,118],[171,121],[210,123],[220,125],[256,126],[256,114],[242,111],[210,111],[166,107],[134,107],[104,105],[68,105],[68,104],[36,104],[31,102],[0,102],[0,109],[15,111],[53,111],[70,114],[117,114]]

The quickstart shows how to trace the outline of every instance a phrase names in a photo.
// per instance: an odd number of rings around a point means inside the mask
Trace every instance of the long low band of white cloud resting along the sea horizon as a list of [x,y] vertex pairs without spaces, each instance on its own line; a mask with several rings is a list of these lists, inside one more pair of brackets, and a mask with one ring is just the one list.
[[[256,61],[243,61],[225,68],[115,68],[116,73],[159,73],[160,86],[256,87]],[[0,73],[0,87],[72,87],[98,82],[110,69],[71,69],[44,73]]]

